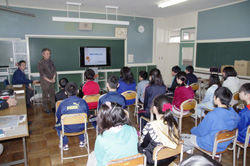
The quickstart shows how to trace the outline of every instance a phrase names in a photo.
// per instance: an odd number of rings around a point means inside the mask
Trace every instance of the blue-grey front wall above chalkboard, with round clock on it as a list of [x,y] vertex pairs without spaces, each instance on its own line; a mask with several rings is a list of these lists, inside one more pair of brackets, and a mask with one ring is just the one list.
[[[33,13],[36,17],[27,17],[0,11],[0,38],[25,38],[26,34],[36,35],[73,35],[73,36],[115,36],[117,25],[93,24],[92,31],[78,30],[77,23],[52,21],[52,16],[66,16],[66,11],[15,8],[20,11]],[[76,13],[71,13],[74,16]],[[81,17],[105,18],[103,14],[81,13]],[[112,18],[112,16],[111,16]],[[114,18],[113,18],[114,19]],[[130,22],[127,36],[127,53],[134,54],[134,63],[152,63],[153,57],[153,19],[141,17],[118,16],[119,20]],[[145,27],[144,33],[139,33],[139,25]],[[0,59],[1,60],[1,59]]]

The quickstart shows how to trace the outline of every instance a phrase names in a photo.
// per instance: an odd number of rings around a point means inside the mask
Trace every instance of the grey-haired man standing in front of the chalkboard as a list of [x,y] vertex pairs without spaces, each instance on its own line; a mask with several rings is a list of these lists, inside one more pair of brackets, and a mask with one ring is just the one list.
[[50,59],[50,49],[44,48],[42,50],[43,58],[38,63],[38,71],[40,73],[40,82],[43,93],[43,107],[44,112],[50,113],[51,109],[55,108],[55,82],[56,82],[56,68],[54,62]]

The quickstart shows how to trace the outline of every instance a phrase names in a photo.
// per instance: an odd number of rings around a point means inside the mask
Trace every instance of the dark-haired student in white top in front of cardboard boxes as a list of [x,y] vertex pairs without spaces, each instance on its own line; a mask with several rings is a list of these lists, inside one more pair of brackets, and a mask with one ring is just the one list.
[[227,87],[233,94],[240,89],[240,79],[237,77],[237,72],[233,67],[225,67],[222,72],[222,86]]

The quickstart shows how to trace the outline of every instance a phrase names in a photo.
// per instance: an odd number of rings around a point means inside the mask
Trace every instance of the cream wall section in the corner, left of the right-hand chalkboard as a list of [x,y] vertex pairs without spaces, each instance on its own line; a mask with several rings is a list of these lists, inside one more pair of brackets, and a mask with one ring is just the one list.
[[172,83],[171,68],[179,65],[179,43],[168,43],[168,33],[171,30],[195,27],[196,12],[183,15],[157,18],[155,21],[155,55],[156,65],[161,70],[164,82]]

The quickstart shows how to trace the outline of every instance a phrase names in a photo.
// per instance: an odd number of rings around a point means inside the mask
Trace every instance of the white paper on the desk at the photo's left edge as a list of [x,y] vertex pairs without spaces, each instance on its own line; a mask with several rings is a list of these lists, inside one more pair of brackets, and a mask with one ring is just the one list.
[[18,126],[19,116],[10,115],[10,116],[0,116],[0,129],[8,130]]

